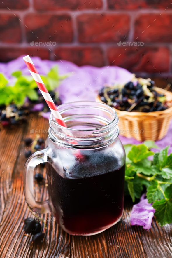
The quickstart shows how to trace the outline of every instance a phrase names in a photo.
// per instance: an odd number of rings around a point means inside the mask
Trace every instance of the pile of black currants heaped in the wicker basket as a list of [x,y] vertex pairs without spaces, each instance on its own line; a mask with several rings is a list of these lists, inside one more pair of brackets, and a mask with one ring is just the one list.
[[152,112],[168,108],[166,96],[155,90],[151,79],[133,78],[125,85],[114,84],[99,90],[102,102],[121,111]]

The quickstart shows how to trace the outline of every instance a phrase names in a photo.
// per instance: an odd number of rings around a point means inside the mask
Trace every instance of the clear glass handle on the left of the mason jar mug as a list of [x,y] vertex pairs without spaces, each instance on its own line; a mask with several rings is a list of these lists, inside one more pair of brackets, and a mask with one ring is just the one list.
[[43,202],[38,202],[35,200],[35,197],[34,197],[34,185],[33,185],[34,168],[43,162],[48,162],[46,149],[36,151],[27,159],[24,165],[25,200],[29,205],[29,207],[31,208],[31,210],[39,214],[53,211],[50,199]]

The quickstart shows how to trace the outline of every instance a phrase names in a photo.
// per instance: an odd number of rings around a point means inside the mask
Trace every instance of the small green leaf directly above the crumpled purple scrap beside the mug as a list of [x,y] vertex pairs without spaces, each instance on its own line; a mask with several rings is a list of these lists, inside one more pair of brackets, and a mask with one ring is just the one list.
[[161,200],[164,197],[158,186],[159,184],[157,181],[152,181],[148,187],[146,197],[148,198],[149,203],[153,203],[156,200]]

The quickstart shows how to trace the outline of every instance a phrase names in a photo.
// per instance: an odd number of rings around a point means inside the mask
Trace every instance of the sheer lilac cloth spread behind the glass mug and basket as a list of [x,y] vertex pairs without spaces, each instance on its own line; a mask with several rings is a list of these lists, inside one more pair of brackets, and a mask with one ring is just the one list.
[[[0,63],[0,72],[5,74],[8,80],[13,83],[14,79],[11,77],[11,73],[17,70],[21,70],[23,74],[30,75],[28,68],[26,67],[23,56],[10,61],[8,63]],[[47,74],[50,68],[54,65],[58,66],[59,74],[66,74],[71,72],[71,76],[64,79],[60,86],[57,88],[59,96],[63,103],[72,102],[77,100],[95,100],[98,90],[103,87],[104,83],[112,83],[114,81],[119,83],[125,83],[131,79],[132,74],[126,69],[117,66],[105,66],[105,67],[93,67],[82,66],[64,61],[50,61],[41,60],[39,57],[32,57],[34,65],[40,74]],[[49,114],[44,115],[45,118],[49,117]],[[132,138],[125,138],[120,136],[123,144],[138,144],[137,140]],[[157,145],[164,148],[166,145],[171,145],[169,152],[172,152],[172,123],[166,137],[157,141]]]

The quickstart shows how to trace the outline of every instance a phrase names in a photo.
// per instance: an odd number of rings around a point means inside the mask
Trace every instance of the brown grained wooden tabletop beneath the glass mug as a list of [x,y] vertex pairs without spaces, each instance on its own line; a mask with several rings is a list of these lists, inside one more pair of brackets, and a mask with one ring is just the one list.
[[[0,132],[0,257],[172,257],[172,226],[161,228],[155,220],[149,231],[131,226],[129,200],[125,200],[122,220],[95,236],[69,236],[52,214],[46,214],[42,216],[45,239],[41,245],[31,244],[23,230],[23,219],[31,216],[23,194],[23,140],[37,133],[45,139],[47,128],[47,120],[32,115],[27,124]],[[45,169],[36,170],[45,175]],[[45,187],[35,185],[37,200],[46,199],[47,194],[46,182]]]

